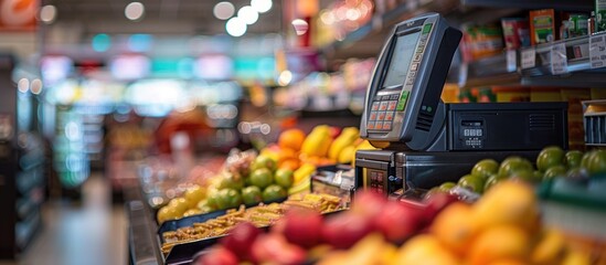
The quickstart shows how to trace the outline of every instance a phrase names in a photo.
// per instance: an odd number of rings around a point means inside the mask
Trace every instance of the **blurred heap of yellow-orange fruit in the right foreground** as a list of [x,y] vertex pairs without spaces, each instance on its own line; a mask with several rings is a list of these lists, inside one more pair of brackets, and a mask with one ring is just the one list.
[[[395,223],[394,223],[395,224]],[[588,253],[567,245],[564,235],[542,227],[534,190],[517,181],[495,186],[469,205],[455,202],[426,233],[402,246],[370,235],[350,251],[318,264],[591,264]]]

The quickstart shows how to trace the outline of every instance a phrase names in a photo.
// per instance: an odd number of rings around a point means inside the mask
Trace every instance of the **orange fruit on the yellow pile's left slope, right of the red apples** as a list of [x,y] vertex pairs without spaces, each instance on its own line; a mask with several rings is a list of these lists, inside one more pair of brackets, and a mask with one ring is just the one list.
[[471,206],[456,202],[444,209],[432,223],[430,231],[448,248],[463,255],[476,234],[472,222],[469,222]]

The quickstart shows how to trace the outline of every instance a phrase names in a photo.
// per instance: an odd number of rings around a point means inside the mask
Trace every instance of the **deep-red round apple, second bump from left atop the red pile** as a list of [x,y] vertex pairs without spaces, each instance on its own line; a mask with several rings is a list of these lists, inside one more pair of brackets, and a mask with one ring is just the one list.
[[309,209],[293,208],[284,216],[284,236],[288,242],[309,248],[322,239],[322,215]]

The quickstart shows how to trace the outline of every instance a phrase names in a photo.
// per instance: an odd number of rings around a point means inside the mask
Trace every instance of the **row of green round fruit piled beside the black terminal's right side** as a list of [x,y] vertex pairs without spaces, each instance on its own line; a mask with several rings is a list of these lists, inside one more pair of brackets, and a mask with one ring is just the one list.
[[592,176],[606,173],[606,150],[564,151],[560,147],[545,147],[535,160],[536,168],[528,159],[512,156],[500,163],[493,159],[477,162],[471,172],[461,177],[458,183],[446,182],[434,191],[449,191],[455,187],[483,193],[497,182],[518,178],[538,183],[554,178],[586,180]]

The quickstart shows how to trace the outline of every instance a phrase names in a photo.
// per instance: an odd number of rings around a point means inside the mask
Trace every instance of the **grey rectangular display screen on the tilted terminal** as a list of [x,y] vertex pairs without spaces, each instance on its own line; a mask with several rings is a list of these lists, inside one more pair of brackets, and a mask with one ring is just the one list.
[[416,31],[396,39],[382,88],[404,83],[419,35],[421,31]]

